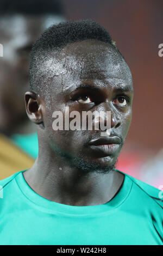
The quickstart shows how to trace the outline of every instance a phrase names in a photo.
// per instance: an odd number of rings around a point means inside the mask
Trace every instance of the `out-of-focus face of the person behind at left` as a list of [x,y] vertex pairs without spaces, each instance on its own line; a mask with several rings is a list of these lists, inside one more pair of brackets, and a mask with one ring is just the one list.
[[29,53],[32,44],[55,18],[5,17],[0,20],[3,57],[0,57],[0,131],[7,132],[27,118],[24,92],[29,87]]

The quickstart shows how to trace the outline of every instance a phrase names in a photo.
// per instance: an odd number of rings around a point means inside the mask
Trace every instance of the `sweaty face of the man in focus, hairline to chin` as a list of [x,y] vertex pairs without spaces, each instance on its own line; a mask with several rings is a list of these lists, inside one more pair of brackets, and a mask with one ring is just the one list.
[[[86,172],[114,168],[130,126],[133,100],[130,70],[120,53],[104,42],[85,40],[66,46],[46,67],[53,78],[43,103],[43,133],[51,149]],[[101,130],[54,131],[52,114],[60,111],[64,116],[66,107],[81,116],[83,111],[111,111],[111,145],[91,145],[101,138]],[[103,139],[106,144],[108,137]]]

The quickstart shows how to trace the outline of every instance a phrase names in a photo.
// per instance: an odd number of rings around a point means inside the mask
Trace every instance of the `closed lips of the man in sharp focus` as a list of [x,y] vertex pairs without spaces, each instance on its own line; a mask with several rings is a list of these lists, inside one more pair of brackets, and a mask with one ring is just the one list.
[[99,157],[114,155],[120,148],[121,139],[117,136],[103,137],[89,142],[90,148]]

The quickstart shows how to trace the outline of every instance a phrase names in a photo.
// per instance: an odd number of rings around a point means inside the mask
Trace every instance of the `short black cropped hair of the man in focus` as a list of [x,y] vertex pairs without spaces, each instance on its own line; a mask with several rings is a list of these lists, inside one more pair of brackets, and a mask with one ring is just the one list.
[[120,53],[108,31],[92,20],[60,22],[46,29],[36,40],[30,54],[30,89],[34,92],[39,90],[41,80],[45,78],[45,74],[41,74],[45,66],[43,63],[50,58],[52,51],[60,51],[73,42],[91,39],[107,42]]

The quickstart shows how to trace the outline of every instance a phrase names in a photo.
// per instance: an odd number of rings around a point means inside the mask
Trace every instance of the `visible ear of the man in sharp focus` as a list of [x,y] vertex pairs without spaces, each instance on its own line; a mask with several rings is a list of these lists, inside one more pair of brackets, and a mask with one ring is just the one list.
[[28,118],[35,124],[43,123],[40,98],[34,92],[25,93],[26,111]]

